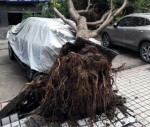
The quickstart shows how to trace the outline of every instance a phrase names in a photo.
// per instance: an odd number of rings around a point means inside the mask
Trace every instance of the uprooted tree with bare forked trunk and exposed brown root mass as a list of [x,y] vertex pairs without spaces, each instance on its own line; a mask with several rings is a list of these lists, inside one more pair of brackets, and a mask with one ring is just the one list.
[[[116,95],[112,90],[112,59],[117,55],[88,39],[97,36],[126,6],[111,9],[95,23],[86,22],[86,18],[75,10],[72,0],[67,0],[71,19],[66,19],[55,7],[54,11],[76,32],[75,44],[65,44],[53,67],[45,74],[35,75],[21,93],[0,112],[3,118],[13,112],[21,116],[39,114],[51,121],[64,118],[78,119],[93,117],[112,110],[116,106]],[[90,0],[88,1],[90,4]],[[111,3],[112,5],[112,3]],[[99,24],[97,30],[89,30],[88,24]]]

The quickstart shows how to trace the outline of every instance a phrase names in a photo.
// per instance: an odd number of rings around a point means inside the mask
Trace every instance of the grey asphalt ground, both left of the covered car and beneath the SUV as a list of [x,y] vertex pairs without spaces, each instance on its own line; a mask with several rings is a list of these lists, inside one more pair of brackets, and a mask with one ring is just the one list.
[[[145,64],[137,52],[116,47],[113,50],[120,54],[113,60],[113,67],[126,63],[125,68]],[[8,56],[7,40],[0,40],[0,101],[10,100],[16,96],[27,82],[25,70],[17,61],[11,61]]]

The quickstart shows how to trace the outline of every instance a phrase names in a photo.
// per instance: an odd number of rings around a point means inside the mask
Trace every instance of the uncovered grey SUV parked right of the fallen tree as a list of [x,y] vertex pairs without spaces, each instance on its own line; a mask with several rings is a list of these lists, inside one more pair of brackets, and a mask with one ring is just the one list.
[[101,34],[102,44],[123,46],[140,52],[150,63],[150,13],[133,13],[108,26]]

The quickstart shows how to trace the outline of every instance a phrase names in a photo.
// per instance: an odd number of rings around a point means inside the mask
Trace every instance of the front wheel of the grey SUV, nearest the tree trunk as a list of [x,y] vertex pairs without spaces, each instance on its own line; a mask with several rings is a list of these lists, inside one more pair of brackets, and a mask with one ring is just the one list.
[[110,37],[106,33],[102,35],[102,45],[107,48],[109,48],[111,46]]

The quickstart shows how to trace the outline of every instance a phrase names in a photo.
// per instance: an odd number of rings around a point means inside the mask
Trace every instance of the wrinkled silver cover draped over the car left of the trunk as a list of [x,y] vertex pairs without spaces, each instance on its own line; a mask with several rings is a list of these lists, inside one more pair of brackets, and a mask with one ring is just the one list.
[[24,64],[42,72],[53,66],[62,45],[75,42],[75,33],[60,18],[31,17],[13,26],[7,39]]

